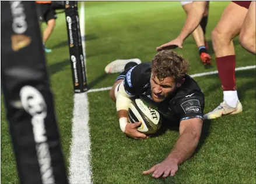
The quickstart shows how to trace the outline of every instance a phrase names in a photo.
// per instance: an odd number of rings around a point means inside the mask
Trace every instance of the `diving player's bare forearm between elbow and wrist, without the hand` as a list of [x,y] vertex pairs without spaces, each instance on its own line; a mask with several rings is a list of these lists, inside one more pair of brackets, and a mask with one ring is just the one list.
[[188,160],[194,153],[199,142],[199,137],[191,132],[184,132],[178,138],[176,145],[166,159],[175,160],[181,164]]

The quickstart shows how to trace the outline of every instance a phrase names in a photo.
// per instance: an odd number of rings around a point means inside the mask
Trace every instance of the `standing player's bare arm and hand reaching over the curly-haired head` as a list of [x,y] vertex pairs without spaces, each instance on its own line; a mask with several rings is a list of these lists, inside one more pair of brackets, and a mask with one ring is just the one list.
[[187,19],[185,20],[183,29],[181,30],[180,35],[176,39],[173,39],[166,44],[158,46],[157,51],[163,49],[169,49],[171,46],[176,45],[178,48],[183,48],[183,41],[187,38],[194,30],[198,27],[202,16],[204,15],[205,7],[207,1],[194,1],[192,2],[192,8],[187,14]]

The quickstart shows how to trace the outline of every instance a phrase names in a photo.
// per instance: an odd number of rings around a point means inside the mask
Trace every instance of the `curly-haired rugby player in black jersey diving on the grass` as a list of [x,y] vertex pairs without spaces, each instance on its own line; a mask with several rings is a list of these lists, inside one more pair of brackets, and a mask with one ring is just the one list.
[[190,158],[198,145],[204,116],[204,93],[186,74],[188,62],[176,52],[162,50],[151,63],[139,63],[140,60],[129,63],[116,60],[106,66],[108,73],[122,72],[110,91],[110,98],[116,102],[122,132],[131,138],[148,138],[136,129],[141,122],[128,123],[129,98],[134,96],[152,104],[167,119],[180,122],[180,136],[169,156],[143,172],[152,173],[154,178],[174,176],[178,165]]

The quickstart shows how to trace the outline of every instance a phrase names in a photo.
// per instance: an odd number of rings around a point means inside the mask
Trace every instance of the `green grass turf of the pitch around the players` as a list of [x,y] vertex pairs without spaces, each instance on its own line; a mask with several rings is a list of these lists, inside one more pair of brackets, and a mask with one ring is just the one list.
[[[208,40],[228,3],[210,3]],[[138,57],[142,62],[150,61],[156,46],[175,38],[185,19],[180,2],[86,2],[85,5],[87,80],[92,88],[113,84],[117,74],[104,74],[104,67],[112,60]],[[58,16],[55,31],[47,43],[47,47],[53,49],[47,54],[47,63],[62,147],[69,164],[73,87],[65,17],[63,14]],[[236,67],[255,64],[255,57],[241,48],[237,38],[234,45]],[[213,68],[205,70],[191,37],[183,46],[177,51],[190,61],[190,74],[216,70],[214,58]],[[209,46],[211,48],[211,41]],[[93,182],[255,183],[255,70],[237,71],[236,77],[243,113],[205,121],[194,157],[180,165],[174,178],[167,179],[153,179],[142,175],[142,171],[170,153],[178,132],[168,130],[148,140],[126,138],[120,131],[115,105],[108,98],[108,91],[89,93]],[[208,113],[222,102],[218,75],[195,79],[205,93],[205,113]],[[1,104],[1,182],[17,183],[8,123],[3,102]]]

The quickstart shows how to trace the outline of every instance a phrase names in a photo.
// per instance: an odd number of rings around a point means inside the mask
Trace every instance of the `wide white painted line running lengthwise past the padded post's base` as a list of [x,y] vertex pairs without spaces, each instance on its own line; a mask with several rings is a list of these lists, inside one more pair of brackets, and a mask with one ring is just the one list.
[[[84,4],[81,2],[80,28],[85,24]],[[81,31],[85,36],[85,31]],[[85,42],[85,40],[83,40]],[[85,44],[85,43],[83,43]],[[85,49],[83,49],[85,50]],[[87,93],[75,93],[72,119],[71,156],[69,158],[69,183],[92,184],[90,166],[89,102]]]

